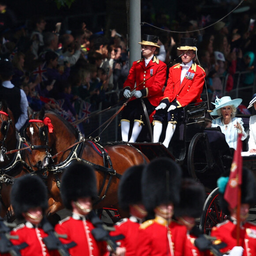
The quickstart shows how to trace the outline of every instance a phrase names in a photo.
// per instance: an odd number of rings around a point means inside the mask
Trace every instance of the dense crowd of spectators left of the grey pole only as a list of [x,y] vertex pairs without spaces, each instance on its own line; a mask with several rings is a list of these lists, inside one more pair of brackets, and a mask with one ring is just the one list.
[[12,62],[11,83],[25,91],[32,109],[44,107],[74,121],[117,104],[129,66],[126,41],[115,30],[110,38],[84,23],[68,31],[57,23],[47,31],[41,15],[31,24],[32,30],[15,19],[3,23],[0,58]]

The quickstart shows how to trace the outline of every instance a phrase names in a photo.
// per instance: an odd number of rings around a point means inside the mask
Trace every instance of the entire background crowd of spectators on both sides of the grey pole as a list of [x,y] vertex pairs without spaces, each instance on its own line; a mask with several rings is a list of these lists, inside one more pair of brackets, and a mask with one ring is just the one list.
[[[32,109],[53,109],[74,121],[85,117],[89,109],[93,112],[117,104],[129,72],[125,36],[115,30],[110,37],[103,32],[93,33],[84,23],[67,31],[57,23],[54,31],[46,31],[46,20],[41,15],[31,19],[33,29],[29,30],[26,26],[15,26],[15,16],[6,5],[4,8],[6,12],[1,13],[9,16],[0,17],[5,22],[0,20],[0,58],[12,62],[15,74],[11,83],[25,91]],[[181,22],[168,23],[165,15],[157,15],[155,26],[184,33],[142,26],[142,34],[159,35],[156,55],[168,67],[180,61],[177,58],[180,39],[196,38],[196,61],[206,71],[204,93],[208,92],[208,100],[212,102],[216,96],[222,97],[223,90],[228,92],[236,86],[237,71],[251,71],[241,76],[242,86],[254,83],[254,16],[244,11],[237,17],[232,24],[224,20],[200,30],[213,21],[208,19],[208,24],[202,24],[183,15]],[[227,77],[225,88],[224,77]],[[249,101],[252,91],[245,90],[245,105],[246,93]]]

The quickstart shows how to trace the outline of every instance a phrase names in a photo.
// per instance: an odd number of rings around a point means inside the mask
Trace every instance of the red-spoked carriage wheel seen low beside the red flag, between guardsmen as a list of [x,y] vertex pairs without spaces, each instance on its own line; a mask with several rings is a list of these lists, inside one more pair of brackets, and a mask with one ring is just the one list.
[[209,234],[211,229],[227,218],[219,206],[219,192],[215,188],[207,197],[203,205],[203,213],[200,218],[200,230],[203,233]]

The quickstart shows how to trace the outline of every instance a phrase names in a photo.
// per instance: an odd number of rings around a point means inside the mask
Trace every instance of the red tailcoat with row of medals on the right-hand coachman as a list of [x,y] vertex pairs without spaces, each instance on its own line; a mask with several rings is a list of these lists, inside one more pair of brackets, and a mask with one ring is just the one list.
[[200,95],[203,90],[205,72],[203,68],[196,63],[188,69],[188,77],[184,77],[181,83],[180,64],[176,64],[169,69],[169,78],[163,99],[168,98],[169,102],[175,99],[180,107],[184,107],[190,103],[201,102]]

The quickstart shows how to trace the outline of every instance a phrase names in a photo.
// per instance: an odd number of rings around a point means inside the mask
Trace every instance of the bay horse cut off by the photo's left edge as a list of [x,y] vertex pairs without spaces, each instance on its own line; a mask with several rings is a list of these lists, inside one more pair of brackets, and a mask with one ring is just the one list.
[[0,102],[0,216],[8,213],[8,220],[13,217],[10,208],[11,184],[15,178],[32,171],[23,162],[23,157],[28,153],[24,148],[23,139],[16,132],[11,110],[5,102]]

